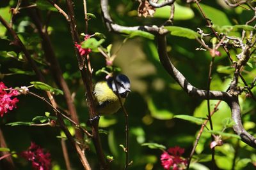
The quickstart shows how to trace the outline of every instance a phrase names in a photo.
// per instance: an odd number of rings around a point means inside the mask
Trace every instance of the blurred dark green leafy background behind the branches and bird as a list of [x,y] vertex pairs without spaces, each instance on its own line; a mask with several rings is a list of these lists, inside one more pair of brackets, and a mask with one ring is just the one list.
[[[10,8],[15,8],[17,1],[0,1],[0,15],[7,21],[10,21]],[[77,113],[81,123],[85,124],[88,120],[88,108],[84,97],[85,91],[81,81],[80,73],[77,67],[77,60],[74,53],[74,46],[70,36],[70,31],[65,18],[56,11],[51,11],[51,5],[46,1],[29,1],[29,4],[37,4],[40,9],[40,15],[44,22],[48,22],[48,32],[54,46],[54,52],[58,57],[63,76],[70,87],[74,97]],[[63,10],[66,10],[65,1],[59,1]],[[137,16],[138,1],[109,1],[109,11],[113,20],[121,25],[144,25],[144,24],[163,24],[169,18],[170,8],[164,7],[157,9],[155,17],[143,18]],[[236,25],[245,24],[254,15],[252,11],[244,8],[229,8],[223,1],[202,1],[201,6],[211,19],[214,25]],[[83,2],[74,1],[77,28],[79,33],[84,32],[84,12]],[[112,44],[111,52],[114,53],[122,43],[125,36],[108,32],[102,22],[100,14],[99,1],[88,0],[88,13],[93,13],[95,18],[89,20],[88,33],[101,32],[105,34],[106,41],[102,46],[106,47]],[[51,13],[51,14],[49,14]],[[50,19],[47,20],[47,16]],[[211,32],[205,27],[205,20],[195,4],[186,4],[184,1],[176,1],[175,17],[173,20],[175,26],[187,27],[197,31],[197,28],[205,32]],[[13,28],[19,34],[19,38],[26,45],[26,48],[32,53],[38,67],[42,70],[47,83],[53,87],[54,80],[50,74],[47,62],[44,59],[44,52],[40,44],[41,38],[35,29],[35,24],[31,21],[26,9],[20,10],[15,16]],[[241,36],[241,30],[234,32]],[[22,53],[15,46],[10,45],[12,37],[3,25],[0,24],[0,71],[1,81],[8,87],[20,87],[29,85],[30,81],[36,81],[36,76],[31,73],[31,67],[22,59]],[[81,36],[81,39],[83,37]],[[209,39],[205,39],[209,43]],[[181,38],[177,36],[168,36],[168,53],[172,57],[173,64],[180,70],[191,84],[200,89],[206,89],[209,63],[211,55],[209,52],[195,50],[200,44],[195,39]],[[211,90],[227,90],[230,83],[232,67],[226,53],[220,48],[221,56],[216,57],[213,66]],[[236,56],[237,50],[230,49],[232,56]],[[105,66],[105,60],[100,53],[91,53],[92,67],[94,73]],[[244,79],[251,83],[256,76],[255,58],[250,59],[252,66],[244,67]],[[196,134],[200,125],[193,124],[185,120],[173,118],[175,115],[191,115],[200,118],[206,118],[207,103],[196,98],[189,97],[179,85],[166,73],[161,66],[157,46],[154,40],[145,38],[130,38],[122,46],[118,57],[114,62],[115,66],[122,69],[131,80],[131,94],[129,95],[125,108],[129,113],[130,125],[130,160],[133,161],[129,169],[163,169],[161,167],[159,149],[141,146],[143,143],[158,143],[166,146],[181,146],[186,149],[184,157],[189,157],[193,147]],[[18,68],[22,73],[10,68]],[[14,71],[14,72],[13,72]],[[32,71],[33,72],[33,71]],[[9,73],[15,73],[10,74]],[[29,74],[31,73],[31,74]],[[93,82],[103,80],[104,76],[93,75]],[[241,83],[241,85],[243,85]],[[32,90],[36,94],[43,95],[40,90]],[[253,93],[256,94],[255,89]],[[0,126],[3,130],[8,148],[15,152],[25,150],[30,145],[30,141],[45,148],[51,152],[52,169],[65,169],[65,162],[61,152],[60,130],[52,127],[26,127],[5,125],[10,122],[31,121],[33,117],[43,116],[45,111],[54,115],[45,103],[32,96],[20,96],[18,108],[11,113],[4,115],[0,120]],[[57,96],[58,104],[61,108],[67,109],[63,96]],[[218,101],[211,101],[211,108]],[[247,98],[244,94],[240,97],[243,113],[244,126],[251,134],[255,134],[255,101]],[[230,118],[230,109],[227,104],[221,103],[219,110],[212,117],[214,129],[221,131],[223,129],[223,119]],[[72,129],[71,125],[67,122]],[[101,141],[106,155],[113,156],[111,162],[112,169],[123,169],[125,164],[125,154],[120,145],[125,144],[125,118],[122,111],[115,115],[100,118],[100,129],[104,130]],[[225,132],[233,133],[232,129]],[[204,131],[198,147],[192,169],[209,169],[211,167],[211,134]],[[220,169],[231,169],[234,156],[236,155],[235,169],[253,169],[253,162],[256,161],[256,154],[253,148],[239,142],[237,138],[225,138],[225,144],[216,147],[216,164]],[[92,169],[99,169],[97,155],[90,139],[86,139],[86,145],[90,149],[86,152]],[[74,169],[81,169],[79,159],[70,143],[67,143],[68,153],[71,164]],[[13,158],[18,169],[29,169],[26,162]],[[255,167],[254,167],[255,168]]]

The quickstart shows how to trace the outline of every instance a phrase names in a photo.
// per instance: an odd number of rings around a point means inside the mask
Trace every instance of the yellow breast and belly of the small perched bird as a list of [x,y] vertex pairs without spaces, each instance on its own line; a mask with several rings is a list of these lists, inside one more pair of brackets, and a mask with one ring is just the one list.
[[[109,88],[106,81],[96,83],[93,91],[97,102],[97,111],[100,115],[113,114],[120,109],[121,106],[118,97]],[[120,99],[124,104],[125,98],[120,97]]]

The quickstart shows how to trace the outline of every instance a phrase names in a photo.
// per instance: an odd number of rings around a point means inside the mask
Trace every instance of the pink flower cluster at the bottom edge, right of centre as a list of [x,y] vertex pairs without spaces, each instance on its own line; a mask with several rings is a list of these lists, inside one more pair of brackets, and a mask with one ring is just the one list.
[[184,148],[175,146],[164,151],[161,155],[161,163],[164,169],[182,170],[186,169],[187,160],[182,158],[181,155],[184,153]]

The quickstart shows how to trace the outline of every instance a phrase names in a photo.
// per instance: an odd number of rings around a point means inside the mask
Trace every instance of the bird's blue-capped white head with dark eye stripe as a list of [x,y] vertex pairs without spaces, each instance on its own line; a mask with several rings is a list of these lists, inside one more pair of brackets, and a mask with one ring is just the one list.
[[115,78],[109,78],[108,85],[113,92],[118,93],[123,98],[127,97],[129,92],[131,92],[130,80],[124,74],[118,74]]

